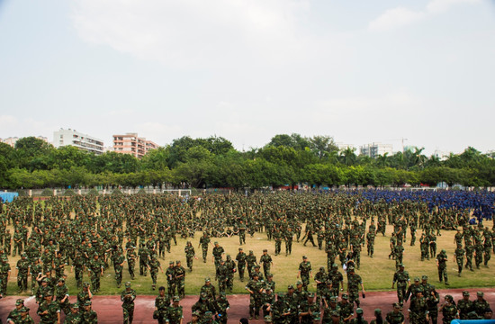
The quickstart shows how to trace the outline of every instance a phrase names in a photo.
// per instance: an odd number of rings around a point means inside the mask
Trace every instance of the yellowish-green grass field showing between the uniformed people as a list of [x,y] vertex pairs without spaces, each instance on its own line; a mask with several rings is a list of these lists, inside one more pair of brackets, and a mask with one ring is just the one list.
[[[491,228],[491,222],[487,222],[485,226]],[[388,258],[390,253],[389,239],[392,233],[392,227],[387,227],[386,237],[378,235],[374,246],[374,258],[367,257],[366,247],[364,247],[361,255],[361,269],[356,270],[358,275],[361,275],[365,284],[366,291],[386,291],[391,290],[392,287],[392,277],[395,272],[395,261]],[[464,287],[494,287],[495,286],[495,276],[493,275],[493,269],[481,266],[480,269],[475,269],[474,272],[464,269],[462,277],[457,276],[457,265],[455,263],[454,251],[454,235],[455,231],[442,231],[442,236],[437,237],[437,252],[442,248],[446,249],[447,256],[449,258],[447,273],[449,277],[450,288],[464,288]],[[406,271],[409,272],[411,282],[414,277],[421,275],[428,275],[428,282],[434,284],[437,288],[446,288],[445,284],[440,284],[438,282],[437,266],[435,259],[420,261],[420,250],[419,250],[419,237],[421,236],[421,231],[418,231],[416,246],[410,247],[410,233],[408,231],[408,237],[406,243],[404,243],[405,252],[403,263],[406,266]],[[205,277],[211,277],[211,284],[215,284],[218,288],[218,284],[214,281],[214,270],[211,249],[208,250],[207,263],[202,262],[202,250],[201,247],[198,248],[199,238],[201,233],[196,233],[195,237],[192,238],[193,247],[196,250],[197,260],[193,263],[193,272],[186,270],[185,277],[185,293],[186,294],[198,294],[202,284],[204,284]],[[218,240],[221,247],[224,247],[226,254],[229,254],[235,259],[238,253],[238,237],[231,238],[211,238],[211,242]],[[275,242],[268,241],[266,239],[265,233],[257,233],[253,238],[247,236],[247,244],[243,245],[244,251],[248,253],[249,250],[253,250],[257,260],[262,255],[262,250],[264,248],[268,249],[268,254],[274,259],[274,267],[271,272],[274,274],[274,280],[276,282],[276,291],[285,291],[288,284],[294,284],[297,279],[298,267],[302,262],[302,256],[305,255],[309,258],[312,266],[312,276],[318,272],[320,266],[327,265],[327,255],[324,250],[318,249],[318,247],[312,247],[309,244],[307,247],[302,245],[302,242],[298,243],[294,240],[293,242],[293,254],[289,257],[285,257],[284,242],[282,244],[283,253],[275,257]],[[177,245],[174,246],[172,242],[171,253],[167,254],[165,260],[159,259],[163,270],[166,270],[169,261],[181,260],[183,266],[185,267],[185,256],[184,247],[187,239],[178,238]],[[316,243],[316,239],[315,239]],[[19,257],[10,257],[10,264],[12,266],[12,274],[8,284],[7,293],[12,295],[17,293],[17,279],[15,264]],[[495,262],[495,261],[491,261]],[[489,266],[491,266],[489,262]],[[149,276],[139,276],[139,266],[136,266],[136,279],[132,281],[132,287],[139,294],[156,294],[157,291],[151,289],[151,277]],[[342,269],[340,269],[342,271]],[[66,267],[66,273],[69,273],[70,266]],[[247,277],[247,272],[246,272]],[[346,275],[345,282],[346,282]],[[29,278],[31,284],[31,277]],[[85,281],[89,282],[87,272],[85,272]],[[102,278],[101,290],[98,294],[120,294],[123,290],[123,283],[130,281],[130,275],[127,271],[127,264],[124,266],[122,288],[118,289],[115,283],[113,268],[110,268],[105,272]],[[234,290],[233,293],[247,293],[245,290],[245,285],[247,280],[245,278],[244,283],[241,283],[238,279],[238,274],[235,276],[234,280]],[[159,273],[157,286],[166,286],[165,275]],[[76,281],[74,279],[74,274],[69,273],[69,278],[67,280],[67,286],[69,287],[69,293],[74,295],[78,293],[76,288]],[[314,291],[316,286],[311,278],[310,290]]]

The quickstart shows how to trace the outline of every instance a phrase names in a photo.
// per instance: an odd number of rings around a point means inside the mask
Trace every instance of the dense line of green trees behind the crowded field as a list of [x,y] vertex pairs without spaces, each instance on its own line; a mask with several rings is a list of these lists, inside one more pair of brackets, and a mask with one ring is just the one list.
[[139,185],[193,188],[263,188],[293,184],[401,186],[404,184],[495,185],[495,158],[469,147],[446,159],[408,148],[376,158],[355,148],[338,149],[329,136],[275,135],[263,148],[238,151],[228,139],[184,136],[138,159],[126,154],[54,148],[27,137],[15,147],[0,143],[0,187],[103,187]]

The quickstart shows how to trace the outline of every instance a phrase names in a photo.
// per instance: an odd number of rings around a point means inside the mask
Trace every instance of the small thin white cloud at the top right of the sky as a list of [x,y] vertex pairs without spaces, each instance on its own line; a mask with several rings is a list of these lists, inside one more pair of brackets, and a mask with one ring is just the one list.
[[432,14],[440,14],[455,4],[477,4],[480,0],[431,0],[422,11],[405,7],[389,9],[368,24],[369,31],[388,31],[397,27],[416,23]]

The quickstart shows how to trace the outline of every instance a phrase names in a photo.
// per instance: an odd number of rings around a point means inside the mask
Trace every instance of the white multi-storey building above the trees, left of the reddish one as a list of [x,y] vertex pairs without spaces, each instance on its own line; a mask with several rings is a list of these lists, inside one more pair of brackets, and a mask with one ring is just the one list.
[[76,130],[60,129],[53,132],[53,146],[55,148],[72,145],[86,152],[96,155],[103,154],[103,140],[96,139],[87,134],[80,133]]

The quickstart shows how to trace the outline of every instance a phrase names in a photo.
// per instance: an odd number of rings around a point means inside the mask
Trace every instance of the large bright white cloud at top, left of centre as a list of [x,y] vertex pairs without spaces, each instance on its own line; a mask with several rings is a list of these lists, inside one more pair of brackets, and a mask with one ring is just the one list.
[[[307,0],[80,0],[73,23],[94,44],[171,67],[284,60],[303,50]],[[248,61],[248,60],[247,60]]]

